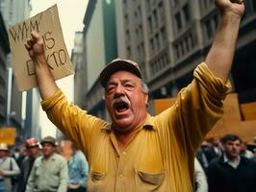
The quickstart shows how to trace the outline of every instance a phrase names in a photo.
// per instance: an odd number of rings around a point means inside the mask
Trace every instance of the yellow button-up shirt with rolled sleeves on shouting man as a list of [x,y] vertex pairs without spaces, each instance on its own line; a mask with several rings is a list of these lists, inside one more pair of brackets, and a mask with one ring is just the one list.
[[148,114],[121,153],[111,123],[70,105],[61,90],[42,102],[52,122],[87,156],[88,191],[192,191],[194,154],[222,115],[230,89],[205,63],[193,76],[173,107]]

